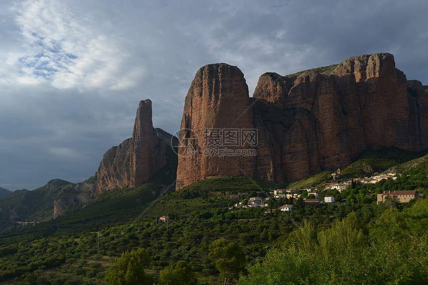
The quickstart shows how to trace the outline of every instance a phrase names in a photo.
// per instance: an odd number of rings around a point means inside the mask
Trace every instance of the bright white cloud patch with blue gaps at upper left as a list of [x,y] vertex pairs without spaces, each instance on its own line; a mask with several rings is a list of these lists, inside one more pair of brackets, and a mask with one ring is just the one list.
[[[19,73],[9,82],[47,83],[58,89],[129,88],[121,76],[126,59],[94,19],[73,13],[62,2],[26,0],[14,6],[24,50],[9,54]],[[124,80],[125,82],[122,82]],[[4,82],[4,79],[3,79]]]

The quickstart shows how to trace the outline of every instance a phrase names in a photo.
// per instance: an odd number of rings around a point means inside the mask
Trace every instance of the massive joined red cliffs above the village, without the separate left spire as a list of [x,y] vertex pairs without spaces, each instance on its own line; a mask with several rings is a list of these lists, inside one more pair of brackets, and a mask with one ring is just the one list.
[[[179,152],[177,189],[244,172],[284,183],[324,167],[344,167],[366,148],[422,150],[428,148],[427,113],[421,82],[407,81],[387,53],[285,77],[265,73],[253,98],[238,68],[208,65],[197,72],[186,96],[181,128],[192,132],[180,133],[185,147]],[[201,138],[215,128],[256,129],[257,156],[205,155]],[[191,133],[200,140],[190,140]]]

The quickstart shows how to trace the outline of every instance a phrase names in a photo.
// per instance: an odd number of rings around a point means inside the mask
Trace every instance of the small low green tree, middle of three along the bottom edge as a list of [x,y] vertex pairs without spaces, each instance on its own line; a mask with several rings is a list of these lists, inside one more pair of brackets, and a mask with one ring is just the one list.
[[177,262],[175,268],[170,265],[161,271],[158,285],[197,285],[198,280],[192,268],[185,261]]

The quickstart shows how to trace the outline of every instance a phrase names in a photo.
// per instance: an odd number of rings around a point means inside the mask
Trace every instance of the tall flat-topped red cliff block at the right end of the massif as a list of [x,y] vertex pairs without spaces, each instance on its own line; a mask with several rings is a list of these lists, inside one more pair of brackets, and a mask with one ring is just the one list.
[[337,66],[333,74],[355,76],[363,139],[367,147],[413,149],[414,138],[412,134],[406,134],[410,114],[407,80],[403,72],[395,69],[391,54],[350,58]]

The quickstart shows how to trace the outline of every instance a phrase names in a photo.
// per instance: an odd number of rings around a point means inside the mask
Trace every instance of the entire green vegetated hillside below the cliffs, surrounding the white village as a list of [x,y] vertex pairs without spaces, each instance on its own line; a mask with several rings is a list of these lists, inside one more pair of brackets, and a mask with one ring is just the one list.
[[[290,185],[248,177],[219,177],[174,191],[173,163],[176,160],[173,158],[176,156],[171,155],[171,163],[149,183],[104,192],[69,214],[23,227],[17,232],[0,234],[0,282],[105,284],[104,278],[112,270],[109,267],[115,264],[114,258],[125,251],[143,248],[149,258],[144,274],[155,282],[161,282],[158,278],[170,270],[168,266],[174,267],[184,261],[190,271],[187,274],[196,276],[199,284],[221,284],[225,273],[214,254],[218,250],[214,245],[218,244],[238,246],[235,250],[247,270],[239,269],[244,272],[239,281],[236,276],[228,277],[238,284],[278,284],[287,279],[302,281],[306,277],[311,284],[337,284],[339,276],[347,276],[343,284],[394,284],[397,275],[384,274],[391,268],[402,272],[407,284],[428,276],[426,251],[417,250],[425,248],[421,244],[427,232],[424,228],[428,213],[425,200],[385,205],[375,202],[376,194],[383,191],[417,189],[428,195],[427,159],[409,160],[419,154],[397,149],[363,153],[362,161],[377,155],[379,159],[374,159],[370,165],[380,165],[379,169],[389,160],[407,160],[400,164],[407,166],[397,180],[359,185],[342,193],[322,192],[321,195],[334,195],[336,204],[305,207],[298,200],[278,201],[294,204],[295,210],[288,214],[279,211],[268,214],[260,207],[235,209],[233,205],[242,200],[231,200],[227,194],[312,186],[325,180],[330,170]],[[54,189],[67,186],[67,183],[53,180],[43,191],[57,195]],[[163,215],[171,217],[168,224],[157,222]],[[391,218],[394,222],[388,223]],[[411,226],[416,224],[421,227]],[[401,239],[393,240],[393,251],[390,251],[393,254],[382,255],[381,249],[386,246],[382,243],[382,234],[391,239],[395,232],[399,232],[406,243],[400,243]],[[349,233],[346,236],[350,237],[351,244],[340,236],[343,233]],[[348,255],[343,254],[346,252]],[[371,256],[376,257],[370,259]],[[263,263],[259,262],[261,260]],[[298,271],[290,271],[293,276],[279,269],[298,260],[302,263],[294,265]],[[270,276],[277,276],[277,280],[266,278],[267,269],[263,264],[270,266]],[[375,277],[361,276],[360,267]]]

